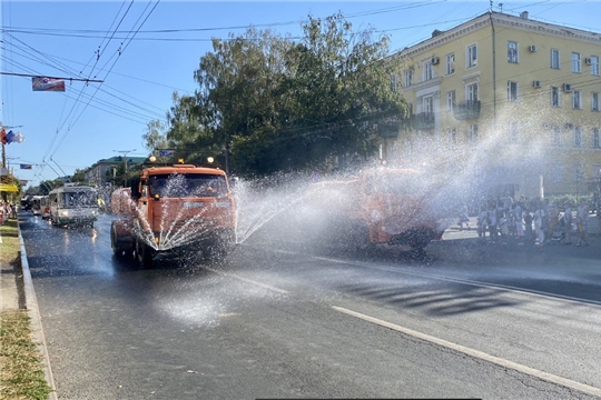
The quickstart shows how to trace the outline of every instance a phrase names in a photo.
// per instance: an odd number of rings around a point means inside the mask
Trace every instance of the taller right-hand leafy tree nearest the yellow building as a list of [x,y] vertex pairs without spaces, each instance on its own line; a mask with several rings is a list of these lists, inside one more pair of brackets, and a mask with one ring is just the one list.
[[[289,74],[283,87],[296,116],[283,132],[296,167],[334,156],[366,158],[377,149],[377,123],[407,116],[403,98],[391,90],[392,61],[384,61],[387,37],[352,31],[342,14],[325,21],[309,18],[304,40],[287,54]],[[292,149],[290,149],[292,150]]]

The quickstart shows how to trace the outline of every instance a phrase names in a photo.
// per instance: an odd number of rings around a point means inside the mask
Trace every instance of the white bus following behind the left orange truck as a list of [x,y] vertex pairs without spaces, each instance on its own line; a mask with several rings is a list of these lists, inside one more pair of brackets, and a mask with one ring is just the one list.
[[55,226],[89,226],[98,219],[95,188],[66,183],[48,194],[50,221]]

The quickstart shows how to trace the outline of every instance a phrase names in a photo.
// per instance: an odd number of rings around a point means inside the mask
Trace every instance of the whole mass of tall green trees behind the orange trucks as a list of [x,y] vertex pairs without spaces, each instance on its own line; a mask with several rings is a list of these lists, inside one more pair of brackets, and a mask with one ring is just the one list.
[[342,14],[309,17],[303,29],[299,41],[254,28],[215,39],[194,73],[195,96],[174,93],[168,129],[149,124],[147,144],[173,146],[188,161],[228,154],[239,174],[373,154],[377,123],[407,114],[391,90],[387,37],[353,32]]

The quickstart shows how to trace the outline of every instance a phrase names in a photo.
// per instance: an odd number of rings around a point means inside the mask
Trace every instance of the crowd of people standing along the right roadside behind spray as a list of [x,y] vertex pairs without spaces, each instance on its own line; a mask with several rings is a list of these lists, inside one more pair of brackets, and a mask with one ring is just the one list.
[[[489,243],[515,241],[519,246],[534,243],[536,247],[549,242],[589,246],[589,204],[584,200],[572,209],[570,204],[546,199],[514,201],[506,194],[482,201],[476,230],[479,238]],[[465,209],[460,212],[457,224],[463,228],[464,223],[470,228]]]

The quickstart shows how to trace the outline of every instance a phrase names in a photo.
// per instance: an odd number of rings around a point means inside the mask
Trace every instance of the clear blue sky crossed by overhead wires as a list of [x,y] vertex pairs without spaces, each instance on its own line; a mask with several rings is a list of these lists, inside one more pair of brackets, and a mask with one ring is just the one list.
[[[0,0],[0,123],[24,138],[4,151],[8,167],[27,186],[71,176],[116,156],[148,157],[150,149],[142,140],[147,123],[165,121],[174,92],[194,93],[194,71],[213,51],[211,38],[238,36],[250,26],[298,37],[307,16],[326,18],[339,11],[354,30],[374,28],[388,34],[391,52],[491,7],[601,32],[599,0]],[[19,74],[73,80],[66,82],[65,92],[40,92],[32,91],[30,77]]]

